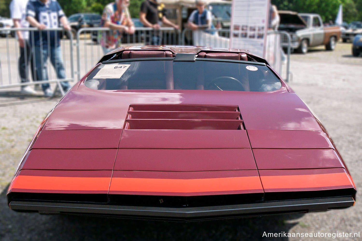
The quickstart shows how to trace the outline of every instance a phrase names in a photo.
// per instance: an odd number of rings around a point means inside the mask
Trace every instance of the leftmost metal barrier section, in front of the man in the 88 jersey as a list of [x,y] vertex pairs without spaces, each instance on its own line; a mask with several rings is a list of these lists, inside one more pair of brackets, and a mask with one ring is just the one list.
[[[20,49],[17,38],[12,37],[16,35],[16,31],[27,32],[29,35],[29,39],[25,41],[22,49]],[[38,46],[30,44],[36,40],[37,34],[39,34]],[[59,39],[59,34],[67,35],[70,39]],[[57,46],[58,40],[60,50],[53,48]],[[72,46],[71,32],[61,28],[46,30],[12,28],[5,38],[0,38],[0,56],[6,56],[6,58],[1,57],[0,59],[0,89],[56,83],[55,90],[59,89],[64,95],[62,84],[65,85],[65,81],[74,81]],[[54,53],[55,51],[58,52]],[[19,57],[22,59],[20,60]],[[59,62],[61,60],[63,60],[64,71]],[[50,68],[51,65],[54,68]]]

